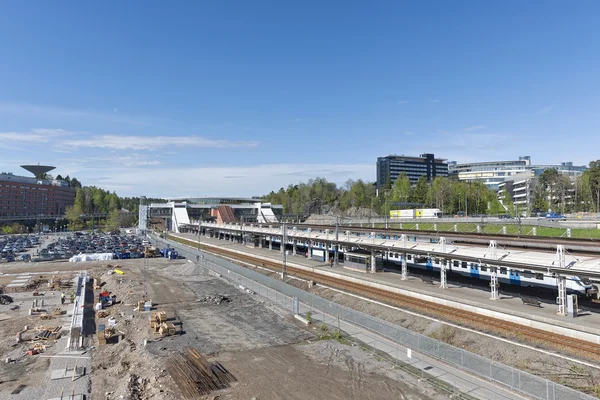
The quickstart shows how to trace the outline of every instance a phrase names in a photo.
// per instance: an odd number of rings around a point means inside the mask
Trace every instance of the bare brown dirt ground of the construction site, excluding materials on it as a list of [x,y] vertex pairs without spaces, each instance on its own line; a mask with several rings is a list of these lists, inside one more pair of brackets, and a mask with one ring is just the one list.
[[[88,399],[184,398],[168,372],[168,364],[169,358],[186,346],[194,347],[210,361],[220,362],[237,380],[229,388],[198,398],[445,398],[357,345],[319,340],[313,330],[298,326],[289,311],[263,302],[186,260],[156,258],[111,264],[113,268],[118,265],[124,275],[108,274],[109,265],[101,262],[0,266],[0,285],[15,279],[17,274],[66,279],[85,269],[103,283],[103,290],[117,296],[118,303],[106,310],[115,319],[115,328],[123,333],[123,339],[99,344],[95,333],[100,325],[108,326],[109,317],[95,318],[94,332],[88,337],[94,347],[81,356],[91,360],[86,380],[78,383],[76,391],[87,394]],[[47,304],[60,303],[58,291],[42,287],[40,291]],[[95,290],[95,296],[98,292]],[[64,350],[67,335],[60,341],[46,343],[43,355],[25,355],[31,342],[16,344],[15,334],[25,325],[40,325],[41,321],[39,316],[28,315],[33,300],[31,291],[11,295],[14,304],[21,308],[11,311],[12,305],[0,306],[0,398],[58,397],[61,390],[70,394],[71,379],[50,380],[51,371],[63,368],[65,361],[48,357]],[[157,311],[167,313],[169,322],[177,326],[176,335],[161,338],[151,331],[150,312],[135,310],[144,295]],[[228,301],[217,304],[210,300],[214,295]],[[63,308],[65,315],[51,321],[68,331],[72,305]],[[23,335],[26,340],[27,335]],[[7,357],[15,361],[5,363]],[[18,387],[22,387],[21,393],[11,394]]]

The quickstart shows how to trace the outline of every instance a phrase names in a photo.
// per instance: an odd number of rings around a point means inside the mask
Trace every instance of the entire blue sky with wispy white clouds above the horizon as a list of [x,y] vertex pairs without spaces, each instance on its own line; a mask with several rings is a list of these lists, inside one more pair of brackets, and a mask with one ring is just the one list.
[[594,1],[11,2],[0,169],[120,195],[375,179],[387,154],[600,158]]

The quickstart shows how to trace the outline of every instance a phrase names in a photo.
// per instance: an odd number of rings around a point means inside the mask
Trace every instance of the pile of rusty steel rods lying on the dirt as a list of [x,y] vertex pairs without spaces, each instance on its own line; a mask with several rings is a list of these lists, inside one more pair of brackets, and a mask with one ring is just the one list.
[[207,361],[192,347],[173,355],[167,364],[167,370],[182,394],[191,399],[225,389],[236,381],[219,362]]

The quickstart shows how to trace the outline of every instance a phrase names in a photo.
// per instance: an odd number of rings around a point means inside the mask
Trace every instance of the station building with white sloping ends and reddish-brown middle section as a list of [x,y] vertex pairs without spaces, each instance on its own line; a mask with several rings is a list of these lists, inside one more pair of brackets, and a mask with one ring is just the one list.
[[283,215],[283,206],[263,203],[259,199],[242,197],[171,198],[166,203],[152,203],[149,208],[151,223],[179,232],[179,227],[213,221],[217,223],[277,223]]

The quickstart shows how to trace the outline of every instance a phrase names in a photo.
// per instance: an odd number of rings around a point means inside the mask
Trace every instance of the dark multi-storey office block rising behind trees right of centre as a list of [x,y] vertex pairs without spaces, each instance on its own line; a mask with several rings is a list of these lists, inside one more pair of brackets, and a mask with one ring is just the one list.
[[435,158],[433,154],[421,154],[419,157],[390,155],[377,158],[377,191],[388,183],[393,184],[398,176],[406,174],[411,184],[417,183],[420,177],[432,181],[437,176],[448,176],[446,160]]

